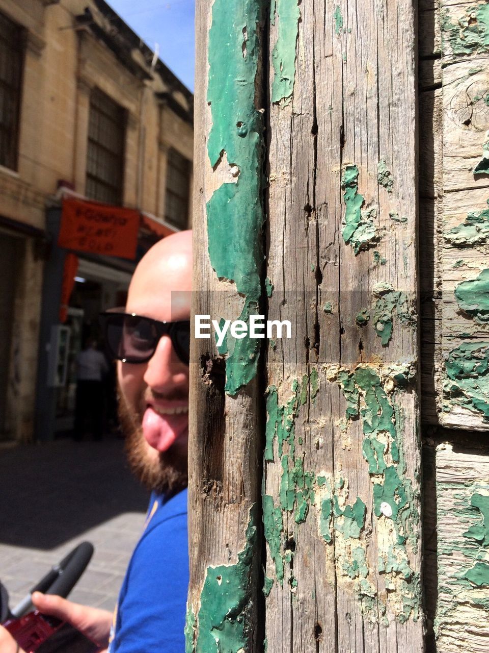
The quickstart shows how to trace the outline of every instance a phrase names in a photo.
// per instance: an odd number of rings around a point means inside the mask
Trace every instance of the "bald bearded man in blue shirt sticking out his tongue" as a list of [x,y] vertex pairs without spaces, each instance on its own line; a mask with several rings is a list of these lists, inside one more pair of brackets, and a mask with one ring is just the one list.
[[[191,232],[168,236],[138,264],[125,310],[104,314],[108,346],[118,359],[128,459],[152,491],[115,613],[33,594],[42,613],[70,622],[109,653],[185,650],[191,278]],[[1,628],[0,650],[18,651]]]

